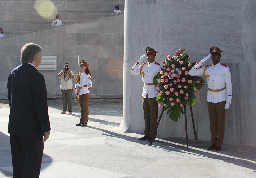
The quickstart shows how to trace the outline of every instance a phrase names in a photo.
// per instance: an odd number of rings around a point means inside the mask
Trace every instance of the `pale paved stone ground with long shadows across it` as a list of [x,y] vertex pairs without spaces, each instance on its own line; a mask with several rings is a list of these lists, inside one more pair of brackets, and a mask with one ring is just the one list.
[[[42,178],[255,178],[255,147],[224,144],[220,152],[205,149],[209,142],[157,138],[152,146],[141,134],[120,133],[122,100],[91,100],[87,127],[77,127],[73,114],[60,114],[61,101],[49,100],[51,135],[44,144]],[[8,134],[8,103],[0,106],[0,178],[12,177]],[[103,104],[108,105],[103,105]],[[119,104],[118,104],[119,103]]]

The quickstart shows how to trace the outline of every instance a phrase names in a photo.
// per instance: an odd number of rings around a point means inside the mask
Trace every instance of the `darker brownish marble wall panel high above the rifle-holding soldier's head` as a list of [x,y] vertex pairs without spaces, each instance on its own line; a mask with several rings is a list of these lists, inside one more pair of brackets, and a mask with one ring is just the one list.
[[98,45],[98,33],[77,33],[77,45]]

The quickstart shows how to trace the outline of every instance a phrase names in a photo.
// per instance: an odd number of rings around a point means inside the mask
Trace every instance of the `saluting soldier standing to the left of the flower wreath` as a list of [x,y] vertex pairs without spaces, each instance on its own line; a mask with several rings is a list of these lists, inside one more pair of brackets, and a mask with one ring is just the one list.
[[[137,63],[132,66],[131,74],[133,75],[142,75],[142,81],[144,82],[142,90],[142,105],[144,110],[144,137],[139,138],[139,140],[148,140],[155,139],[154,131],[156,130],[157,125],[157,109],[158,103],[156,101],[156,84],[153,83],[153,78],[158,72],[163,70],[162,65],[155,61],[156,51],[153,48],[147,47],[145,50],[146,54],[143,54]],[[148,63],[142,63],[146,59]]]

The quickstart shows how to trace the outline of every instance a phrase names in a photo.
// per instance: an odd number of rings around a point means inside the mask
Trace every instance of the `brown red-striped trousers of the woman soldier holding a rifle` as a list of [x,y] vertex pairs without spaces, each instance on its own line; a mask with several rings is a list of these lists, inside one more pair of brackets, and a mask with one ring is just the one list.
[[87,123],[88,122],[88,115],[89,115],[89,109],[88,109],[88,103],[89,103],[90,94],[82,94],[79,95],[79,104],[81,108],[81,117],[80,117],[80,123]]

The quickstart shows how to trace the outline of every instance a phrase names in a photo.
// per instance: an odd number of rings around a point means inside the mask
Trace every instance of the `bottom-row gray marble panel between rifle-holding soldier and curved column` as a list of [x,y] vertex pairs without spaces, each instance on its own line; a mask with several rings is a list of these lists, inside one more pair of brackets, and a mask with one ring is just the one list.
[[117,83],[97,83],[98,94],[116,95],[118,91]]

